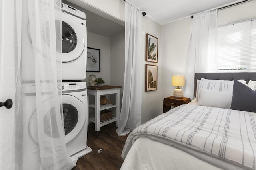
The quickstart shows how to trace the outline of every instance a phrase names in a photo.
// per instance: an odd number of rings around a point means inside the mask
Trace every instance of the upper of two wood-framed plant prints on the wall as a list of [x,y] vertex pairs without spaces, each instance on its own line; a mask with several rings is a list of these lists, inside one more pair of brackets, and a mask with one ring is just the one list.
[[146,34],[146,61],[157,63],[158,59],[158,38]]

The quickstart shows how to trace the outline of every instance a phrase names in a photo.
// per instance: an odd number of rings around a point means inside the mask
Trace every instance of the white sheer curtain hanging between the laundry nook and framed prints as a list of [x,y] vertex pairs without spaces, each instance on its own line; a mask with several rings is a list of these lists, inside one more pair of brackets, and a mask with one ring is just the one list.
[[120,121],[116,133],[126,135],[141,123],[142,13],[125,3],[125,71]]

